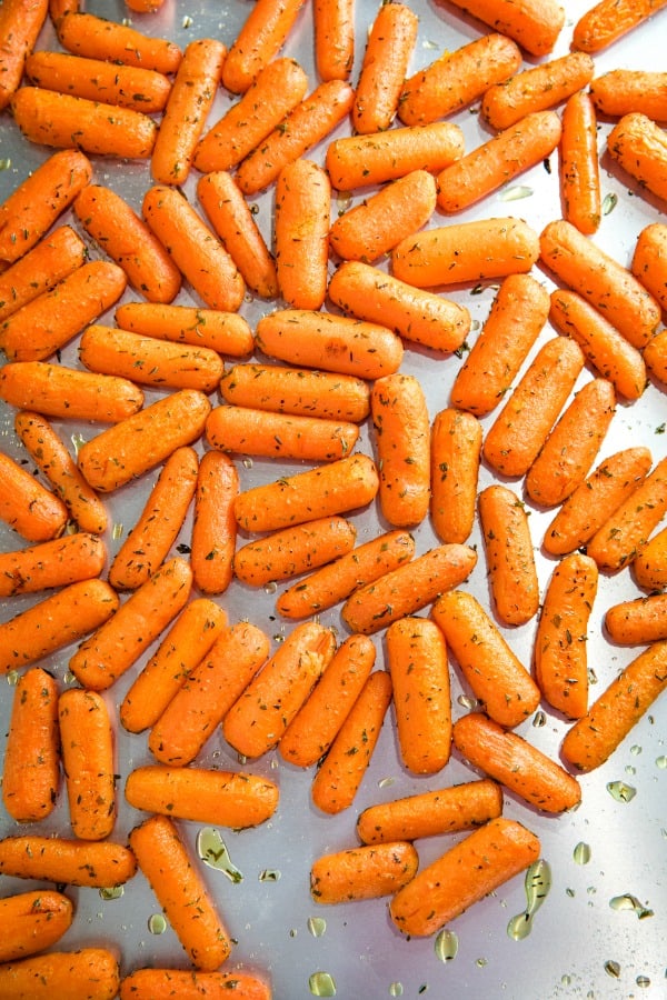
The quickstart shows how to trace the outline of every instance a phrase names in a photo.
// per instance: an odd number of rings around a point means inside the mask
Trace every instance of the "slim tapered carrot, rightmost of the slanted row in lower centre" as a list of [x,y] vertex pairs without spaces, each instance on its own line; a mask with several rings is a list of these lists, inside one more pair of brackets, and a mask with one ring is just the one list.
[[322,812],[336,816],[355,801],[391,703],[391,678],[374,670],[317,771],[310,794]]

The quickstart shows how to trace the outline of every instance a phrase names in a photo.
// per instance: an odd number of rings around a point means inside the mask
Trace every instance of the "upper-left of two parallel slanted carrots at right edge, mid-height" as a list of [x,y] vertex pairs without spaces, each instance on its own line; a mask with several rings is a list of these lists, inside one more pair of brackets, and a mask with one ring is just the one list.
[[570,493],[548,526],[544,548],[550,556],[566,556],[585,546],[616,510],[644,482],[651,467],[648,448],[637,446],[605,459]]

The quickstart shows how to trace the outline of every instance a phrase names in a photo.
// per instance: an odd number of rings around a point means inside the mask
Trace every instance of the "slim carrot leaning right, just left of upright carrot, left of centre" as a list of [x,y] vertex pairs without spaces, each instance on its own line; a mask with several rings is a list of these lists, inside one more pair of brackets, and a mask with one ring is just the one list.
[[137,590],[167,558],[195,496],[199,458],[177,448],[166,460],[141,513],[109,567],[116,590]]

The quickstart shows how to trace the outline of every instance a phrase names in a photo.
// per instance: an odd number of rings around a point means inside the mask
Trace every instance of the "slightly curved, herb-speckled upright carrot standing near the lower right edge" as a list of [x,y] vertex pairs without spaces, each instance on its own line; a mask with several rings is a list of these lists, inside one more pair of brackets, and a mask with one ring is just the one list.
[[565,556],[547,584],[535,634],[535,678],[545,700],[568,719],[588,709],[586,642],[597,582],[589,556]]

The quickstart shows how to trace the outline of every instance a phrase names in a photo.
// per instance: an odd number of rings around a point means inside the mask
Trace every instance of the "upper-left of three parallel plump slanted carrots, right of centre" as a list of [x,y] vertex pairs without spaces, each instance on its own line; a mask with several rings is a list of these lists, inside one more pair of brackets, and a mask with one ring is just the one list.
[[546,288],[532,274],[508,274],[456,374],[452,406],[476,417],[490,413],[509,390],[548,316]]

